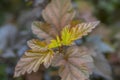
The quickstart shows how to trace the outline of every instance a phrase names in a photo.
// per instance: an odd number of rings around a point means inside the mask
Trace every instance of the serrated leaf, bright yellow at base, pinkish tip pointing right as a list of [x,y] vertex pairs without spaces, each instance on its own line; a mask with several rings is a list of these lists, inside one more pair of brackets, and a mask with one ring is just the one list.
[[63,45],[70,45],[74,40],[82,38],[94,29],[99,22],[81,23],[76,26],[67,25],[62,30]]

